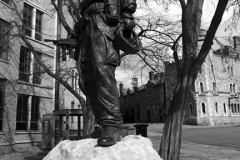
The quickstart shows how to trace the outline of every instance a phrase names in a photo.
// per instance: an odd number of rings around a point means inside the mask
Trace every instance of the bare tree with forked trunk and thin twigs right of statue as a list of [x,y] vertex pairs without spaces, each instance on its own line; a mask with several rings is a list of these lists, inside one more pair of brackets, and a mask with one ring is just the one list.
[[[146,40],[142,52],[138,53],[143,62],[153,70],[157,66],[154,65],[156,59],[165,61],[166,58],[173,58],[176,64],[177,84],[170,103],[159,149],[159,154],[163,159],[176,160],[179,159],[180,154],[182,124],[185,116],[185,108],[188,105],[189,93],[192,93],[194,89],[198,72],[211,49],[215,33],[222,21],[224,12],[227,10],[233,11],[231,21],[228,21],[232,25],[229,28],[234,29],[234,26],[236,28],[236,24],[239,23],[239,2],[236,0],[211,1],[213,4],[218,3],[201,49],[198,50],[204,0],[152,1],[163,5],[166,9],[168,9],[169,5],[178,5],[182,10],[181,20],[179,21],[161,20],[161,13],[159,13],[159,20],[155,17],[155,19],[149,18],[147,19],[147,23],[138,25],[139,36]],[[144,1],[141,5],[148,7],[148,3],[152,1]],[[231,3],[228,4],[228,2]],[[180,31],[174,30],[171,27],[171,25],[176,26],[177,24],[181,24],[179,26]],[[167,30],[167,28],[170,29]],[[180,44],[181,42],[182,44]],[[167,57],[169,54],[163,54],[164,51],[165,53],[169,53],[169,49],[173,52],[172,57]]]

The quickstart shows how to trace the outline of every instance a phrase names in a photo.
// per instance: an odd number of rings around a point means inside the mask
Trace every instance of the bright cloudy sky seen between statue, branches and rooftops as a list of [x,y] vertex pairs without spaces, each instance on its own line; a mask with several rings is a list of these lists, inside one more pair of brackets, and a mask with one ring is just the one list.
[[[140,2],[140,0],[138,0]],[[207,29],[212,16],[214,14],[214,7],[216,6],[216,3],[212,3],[212,1],[216,0],[205,0],[204,7],[203,7],[203,15],[202,15],[202,28]],[[141,0],[142,2],[142,0]],[[164,17],[167,17],[168,19],[172,20],[180,20],[181,19],[181,9],[177,5],[170,5],[168,9],[164,8],[163,6],[159,6],[156,4],[156,2],[152,2],[149,5],[150,8],[146,8],[146,6],[141,3],[138,4],[138,9],[135,13],[135,16],[151,16],[153,14],[161,14]],[[231,10],[228,12],[225,12],[223,16],[223,21],[221,23],[221,26],[217,30],[216,37],[218,37],[218,40],[224,43],[225,45],[229,45],[229,42],[225,41],[227,37],[229,36],[239,36],[239,30],[235,32],[226,31],[226,21],[229,20],[229,17],[231,17]],[[214,49],[219,48],[218,45],[213,46]],[[121,63],[121,66],[117,68],[116,71],[116,79],[118,81],[118,84],[121,82],[124,84],[124,88],[132,88],[131,81],[132,77],[136,76],[138,78],[138,84],[139,86],[146,84],[148,81],[148,72],[150,69],[145,68],[141,69],[141,65],[138,67],[133,67],[137,64],[136,58],[133,58],[132,56],[129,56],[126,58],[125,62]],[[128,65],[131,65],[129,67]],[[129,69],[130,68],[130,69]]]

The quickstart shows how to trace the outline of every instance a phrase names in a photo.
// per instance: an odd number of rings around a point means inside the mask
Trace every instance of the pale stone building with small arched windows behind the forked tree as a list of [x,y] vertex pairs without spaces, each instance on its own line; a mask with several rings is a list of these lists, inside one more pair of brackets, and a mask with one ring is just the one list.
[[[240,123],[240,37],[234,48],[222,46],[210,51],[199,71],[189,100],[185,124],[224,125]],[[165,63],[166,105],[170,105],[176,84],[174,63]]]

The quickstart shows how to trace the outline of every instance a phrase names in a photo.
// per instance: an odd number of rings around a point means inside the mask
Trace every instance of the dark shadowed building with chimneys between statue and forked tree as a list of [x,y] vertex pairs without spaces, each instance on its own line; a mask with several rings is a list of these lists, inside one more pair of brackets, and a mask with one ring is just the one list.
[[165,119],[165,89],[163,74],[149,72],[147,84],[138,86],[133,78],[133,89],[120,89],[120,110],[124,123],[159,123]]

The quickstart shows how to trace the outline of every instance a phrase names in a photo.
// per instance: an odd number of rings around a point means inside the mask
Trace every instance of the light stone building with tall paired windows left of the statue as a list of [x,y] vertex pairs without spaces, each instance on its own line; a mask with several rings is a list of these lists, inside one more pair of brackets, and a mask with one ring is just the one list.
[[[56,71],[56,47],[44,39],[66,38],[66,33],[58,25],[51,0],[16,3],[20,15],[10,0],[0,0],[0,155],[39,144],[42,116],[56,108],[55,93],[59,94],[58,109],[79,108],[77,99],[45,73],[19,38],[19,33],[25,34],[41,60]],[[25,28],[17,27],[22,26],[19,16]],[[74,61],[68,58],[60,69],[68,73],[62,76],[69,84],[79,90],[73,66]]]

